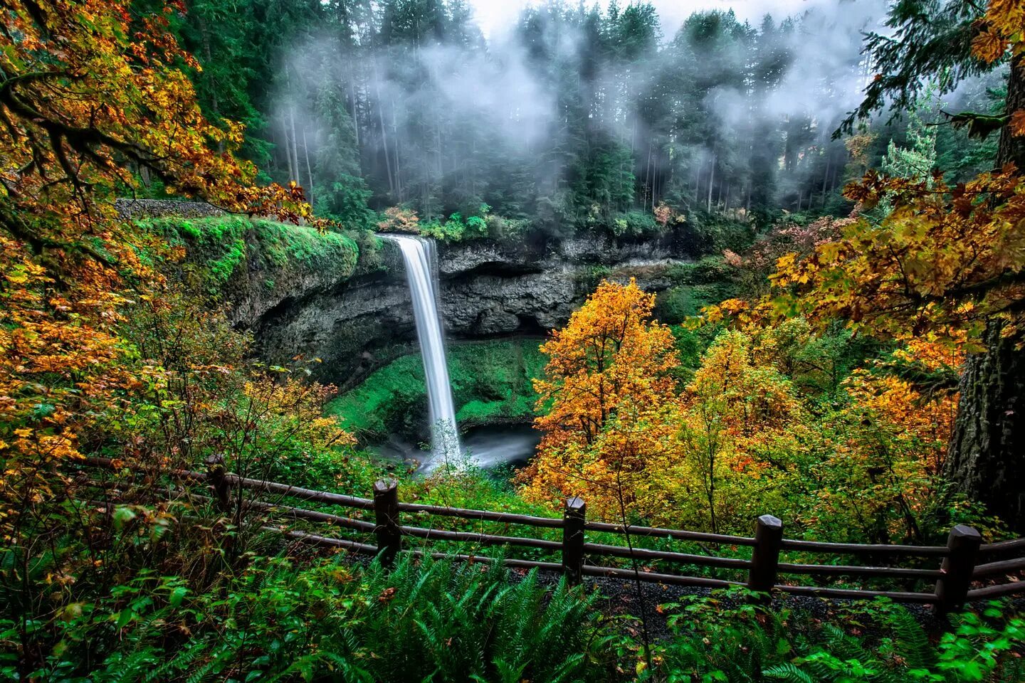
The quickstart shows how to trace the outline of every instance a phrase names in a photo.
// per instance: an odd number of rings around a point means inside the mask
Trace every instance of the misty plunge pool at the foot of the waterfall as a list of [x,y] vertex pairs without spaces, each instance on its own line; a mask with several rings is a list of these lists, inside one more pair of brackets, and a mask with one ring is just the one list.
[[[485,470],[499,467],[523,467],[534,455],[541,440],[541,433],[530,425],[489,425],[474,427],[462,437],[463,458]],[[393,438],[371,451],[394,463],[405,463],[416,468],[417,474],[430,474],[445,465],[420,444]],[[461,463],[452,463],[459,465]]]

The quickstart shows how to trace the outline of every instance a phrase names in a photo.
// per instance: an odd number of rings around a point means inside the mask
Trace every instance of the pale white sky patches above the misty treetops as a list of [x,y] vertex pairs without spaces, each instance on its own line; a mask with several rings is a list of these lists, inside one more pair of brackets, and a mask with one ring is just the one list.
[[[605,0],[603,0],[604,2]],[[741,19],[760,20],[766,12],[781,18],[822,5],[834,5],[836,0],[651,0],[662,17],[663,33],[671,37],[684,19],[701,9],[732,8]],[[520,10],[531,4],[530,0],[470,0],[478,24],[485,35],[499,36],[507,30]],[[591,0],[587,0],[588,6]],[[620,0],[620,5],[627,4]]]

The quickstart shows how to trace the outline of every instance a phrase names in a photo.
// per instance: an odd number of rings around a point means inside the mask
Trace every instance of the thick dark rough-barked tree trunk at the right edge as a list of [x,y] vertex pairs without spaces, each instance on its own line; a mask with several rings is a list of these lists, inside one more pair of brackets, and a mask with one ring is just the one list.
[[[1012,65],[1008,112],[1025,109],[1025,57]],[[1025,171],[1025,138],[1004,127],[997,165]],[[970,356],[960,379],[960,402],[945,474],[956,490],[1025,532],[1025,352],[1021,333],[1004,337],[1000,321],[986,328],[986,351]]]

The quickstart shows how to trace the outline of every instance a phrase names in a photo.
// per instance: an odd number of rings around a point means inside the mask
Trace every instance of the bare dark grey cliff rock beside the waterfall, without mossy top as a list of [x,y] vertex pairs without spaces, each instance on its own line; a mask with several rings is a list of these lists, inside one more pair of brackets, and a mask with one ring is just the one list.
[[[271,361],[296,354],[323,360],[319,379],[341,387],[412,350],[416,330],[398,249],[384,243],[381,266],[288,296],[247,299],[236,319],[252,328]],[[631,276],[648,291],[669,286],[666,269],[689,258],[672,241],[616,244],[568,240],[523,246],[491,242],[439,246],[441,306],[455,339],[539,335],[561,327],[602,278]]]

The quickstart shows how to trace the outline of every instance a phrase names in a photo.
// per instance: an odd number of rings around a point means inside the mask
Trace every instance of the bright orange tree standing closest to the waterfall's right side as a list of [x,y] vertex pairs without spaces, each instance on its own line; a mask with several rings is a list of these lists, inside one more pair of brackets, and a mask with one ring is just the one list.
[[521,474],[528,499],[558,503],[587,490],[600,515],[637,502],[633,475],[666,452],[675,431],[679,360],[669,329],[650,319],[654,305],[632,280],[603,282],[541,346],[548,364],[534,387],[547,413],[535,420],[544,436]]

